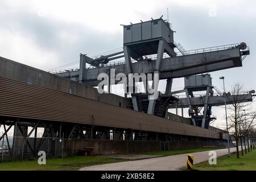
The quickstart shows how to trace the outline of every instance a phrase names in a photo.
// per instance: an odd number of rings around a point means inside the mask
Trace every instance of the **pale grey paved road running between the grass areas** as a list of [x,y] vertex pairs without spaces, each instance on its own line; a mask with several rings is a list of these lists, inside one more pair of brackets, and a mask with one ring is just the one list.
[[[228,149],[214,150],[217,157],[228,154]],[[230,152],[236,151],[236,147],[230,148]],[[209,159],[209,151],[189,153],[194,155],[194,164]],[[187,155],[171,155],[159,158],[134,160],[128,162],[119,162],[111,164],[102,164],[81,168],[81,171],[175,171],[187,165]],[[218,160],[217,160],[218,163]]]

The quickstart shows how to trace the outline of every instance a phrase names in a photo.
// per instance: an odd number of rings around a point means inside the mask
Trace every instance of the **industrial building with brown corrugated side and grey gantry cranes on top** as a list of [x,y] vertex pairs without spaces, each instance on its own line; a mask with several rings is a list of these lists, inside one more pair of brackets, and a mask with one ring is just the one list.
[[[122,51],[94,58],[81,54],[77,69],[46,72],[0,57],[0,123],[5,126],[0,140],[8,140],[7,133],[14,127],[13,144],[7,142],[7,152],[14,156],[44,150],[46,140],[36,135],[29,138],[38,127],[44,129],[43,138],[67,139],[67,150],[72,150],[67,154],[76,154],[74,150],[79,151],[81,146],[93,147],[94,154],[159,150],[162,142],[168,142],[168,149],[225,146],[226,131],[209,123],[216,119],[212,106],[224,105],[226,98],[225,94],[213,94],[208,73],[242,67],[242,60],[249,54],[245,43],[185,51],[174,42],[170,23],[161,17],[123,26]],[[123,62],[119,61],[122,57]],[[125,97],[110,93],[110,85],[118,82],[109,82],[108,93],[98,93],[94,88],[101,81],[98,75],[109,75],[113,69],[115,75],[158,75],[159,80],[166,80],[166,91],[148,100],[147,77],[144,93],[127,96],[127,90],[134,90],[135,84],[124,87]],[[185,88],[172,92],[172,79],[179,77],[184,77]],[[157,88],[157,84],[151,85],[155,92]],[[205,96],[194,97],[197,91],[205,91]],[[176,97],[181,92],[187,98]],[[232,96],[226,97],[227,104],[232,104]],[[251,93],[239,97],[241,102],[253,100]],[[190,118],[168,112],[185,107]],[[32,127],[29,133],[28,126]],[[79,144],[77,139],[81,139]]]

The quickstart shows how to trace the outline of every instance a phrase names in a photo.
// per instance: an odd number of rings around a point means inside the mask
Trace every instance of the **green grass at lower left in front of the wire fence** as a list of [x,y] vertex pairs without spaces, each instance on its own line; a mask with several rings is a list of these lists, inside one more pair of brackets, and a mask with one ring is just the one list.
[[63,159],[53,158],[47,159],[46,165],[39,165],[38,160],[23,160],[19,162],[3,162],[0,163],[0,171],[11,170],[11,171],[65,171],[65,170],[78,170],[81,167],[93,166],[97,164],[108,164],[115,162],[126,161],[123,159],[114,159],[104,156],[67,156]]

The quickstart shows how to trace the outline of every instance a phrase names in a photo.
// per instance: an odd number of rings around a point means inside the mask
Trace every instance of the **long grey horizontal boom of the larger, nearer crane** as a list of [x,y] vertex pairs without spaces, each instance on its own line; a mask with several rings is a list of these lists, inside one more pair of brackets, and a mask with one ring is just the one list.
[[[126,47],[126,46],[125,46]],[[124,51],[125,51],[124,47]],[[129,52],[125,51],[125,56]],[[125,59],[127,59],[125,57]],[[113,65],[115,74],[123,73],[124,70],[132,70],[133,73],[154,73],[156,60],[138,61],[137,63]],[[192,55],[184,55],[163,59],[160,64],[159,71],[160,79],[177,78],[191,76],[201,73],[208,73],[222,69],[241,67],[241,51],[240,48],[224,49],[221,51],[203,52]],[[98,73],[108,73],[110,67],[100,67],[86,69],[86,85],[97,86],[100,81],[97,81]],[[128,74],[127,72],[126,74]],[[58,73],[56,75],[72,78],[79,81],[79,71]],[[117,81],[118,82],[118,81]]]

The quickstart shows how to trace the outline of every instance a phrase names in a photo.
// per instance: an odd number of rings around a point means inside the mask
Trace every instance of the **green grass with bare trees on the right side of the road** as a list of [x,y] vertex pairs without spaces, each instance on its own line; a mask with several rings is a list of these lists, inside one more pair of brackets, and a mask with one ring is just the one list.
[[[255,171],[256,170],[256,150],[249,152],[244,155],[241,155],[240,158],[237,159],[236,153],[232,154],[230,157],[228,155],[221,156],[217,158],[216,165],[210,165],[208,161],[201,162],[199,164],[194,165],[195,170],[200,171]],[[186,168],[183,168],[186,169]]]

